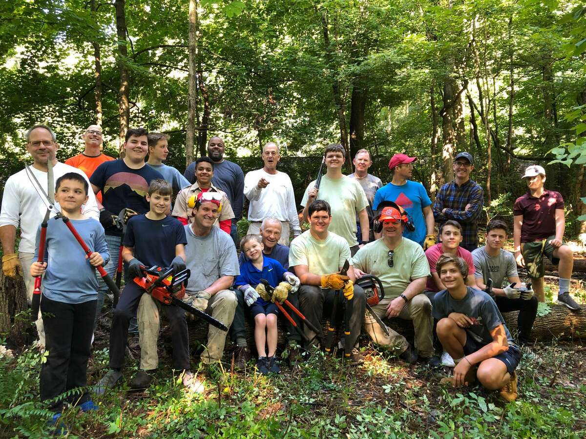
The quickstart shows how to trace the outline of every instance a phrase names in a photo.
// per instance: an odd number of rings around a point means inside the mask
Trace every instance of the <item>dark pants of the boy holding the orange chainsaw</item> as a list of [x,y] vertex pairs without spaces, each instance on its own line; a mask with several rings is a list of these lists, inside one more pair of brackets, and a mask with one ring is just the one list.
[[[134,282],[126,284],[113,311],[110,330],[110,368],[120,369],[124,366],[124,351],[128,337],[128,323],[137,313],[138,303],[145,290]],[[169,326],[173,344],[173,368],[189,369],[189,337],[185,311],[177,306],[162,306]]]

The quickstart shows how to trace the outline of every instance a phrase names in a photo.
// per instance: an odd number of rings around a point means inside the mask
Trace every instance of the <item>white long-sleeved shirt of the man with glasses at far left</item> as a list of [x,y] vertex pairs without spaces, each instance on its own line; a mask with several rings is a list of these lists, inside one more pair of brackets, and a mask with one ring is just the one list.
[[[39,181],[40,186],[47,193],[47,173],[30,166],[30,170]],[[53,177],[57,181],[63,174],[74,172],[80,174],[89,186],[87,203],[81,207],[84,215],[100,220],[100,210],[96,203],[96,196],[91,190],[90,180],[86,174],[69,164],[57,162],[53,166]],[[4,186],[4,195],[2,196],[2,209],[0,211],[0,227],[4,225],[13,225],[21,227],[21,243],[18,246],[19,252],[34,253],[36,231],[45,217],[47,204],[44,196],[41,196],[36,190],[36,183],[33,186],[32,176],[28,174],[26,168],[16,174],[11,175],[6,180]],[[39,190],[40,192],[40,190]],[[46,204],[43,203],[46,201]],[[59,204],[56,203],[56,209],[60,210]],[[54,214],[51,215],[54,217]],[[5,249],[6,250],[6,249]]]

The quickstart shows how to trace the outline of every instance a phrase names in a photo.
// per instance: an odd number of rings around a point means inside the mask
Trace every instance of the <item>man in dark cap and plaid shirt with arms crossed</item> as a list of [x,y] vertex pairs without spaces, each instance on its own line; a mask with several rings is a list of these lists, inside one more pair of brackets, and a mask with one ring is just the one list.
[[435,221],[441,228],[448,219],[462,225],[462,244],[469,252],[478,248],[478,219],[482,214],[484,192],[482,187],[470,179],[474,160],[468,152],[454,158],[454,180],[444,184],[435,197],[433,211]]

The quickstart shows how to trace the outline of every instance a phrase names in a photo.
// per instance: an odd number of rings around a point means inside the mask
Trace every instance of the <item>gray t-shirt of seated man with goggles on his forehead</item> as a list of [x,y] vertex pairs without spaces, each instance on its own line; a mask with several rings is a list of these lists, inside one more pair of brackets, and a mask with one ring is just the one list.
[[222,229],[212,227],[206,236],[195,236],[189,224],[185,226],[185,235],[185,263],[191,270],[186,293],[205,290],[222,276],[240,274],[234,241]]

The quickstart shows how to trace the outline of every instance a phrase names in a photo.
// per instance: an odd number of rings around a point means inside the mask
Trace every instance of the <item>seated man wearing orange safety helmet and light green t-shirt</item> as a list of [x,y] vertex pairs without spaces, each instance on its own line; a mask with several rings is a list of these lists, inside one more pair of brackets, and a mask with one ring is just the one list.
[[440,359],[434,356],[432,340],[431,301],[423,294],[430,275],[423,248],[418,242],[403,237],[403,228],[410,219],[397,204],[383,201],[374,220],[375,231],[382,232],[382,237],[356,253],[352,258],[354,272],[357,277],[368,273],[381,280],[384,299],[372,307],[373,311],[380,318],[412,320],[417,351],[403,335],[389,327],[387,335],[370,313],[364,315],[364,329],[375,343],[396,348],[400,358],[410,364],[417,361],[419,354],[421,361],[439,366]]

